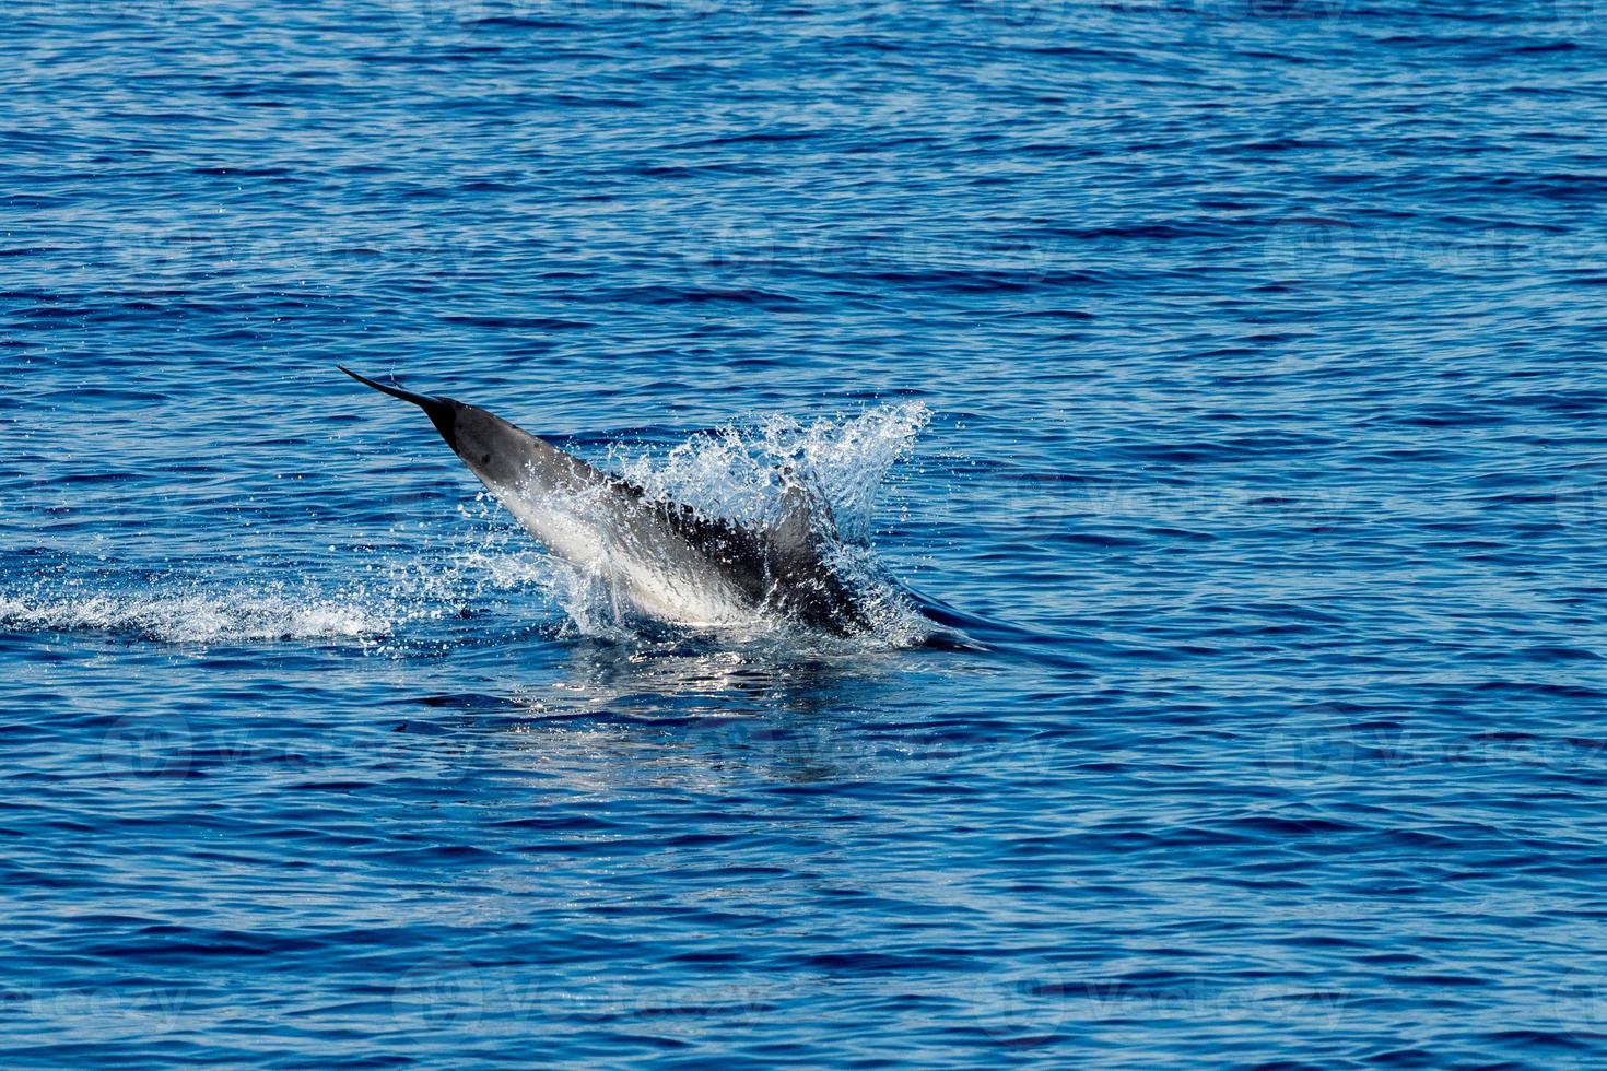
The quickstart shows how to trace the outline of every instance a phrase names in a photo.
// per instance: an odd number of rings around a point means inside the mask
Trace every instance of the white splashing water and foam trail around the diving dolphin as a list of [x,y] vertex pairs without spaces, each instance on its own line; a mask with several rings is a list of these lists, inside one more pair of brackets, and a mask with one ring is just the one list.
[[[908,456],[927,421],[919,403],[810,424],[770,416],[669,450],[614,446],[606,464],[649,493],[744,525],[775,520],[789,483],[802,483],[829,506],[836,531],[823,533],[826,559],[861,599],[871,621],[866,634],[828,641],[795,634],[786,621],[760,621],[725,636],[726,642],[900,647],[921,642],[930,621],[885,578],[869,538],[889,470]],[[230,575],[238,564],[170,562],[148,573],[132,564],[63,560],[0,589],[0,628],[172,644],[349,642],[399,657],[495,641],[508,621],[532,620],[570,636],[675,642],[673,629],[622,613],[601,573],[543,552],[489,493],[448,523],[445,531],[392,530],[400,549],[329,548],[329,560],[289,581]],[[315,572],[336,580],[320,581]],[[485,625],[492,617],[500,623]],[[427,628],[458,620],[476,620],[482,636],[469,626]]]

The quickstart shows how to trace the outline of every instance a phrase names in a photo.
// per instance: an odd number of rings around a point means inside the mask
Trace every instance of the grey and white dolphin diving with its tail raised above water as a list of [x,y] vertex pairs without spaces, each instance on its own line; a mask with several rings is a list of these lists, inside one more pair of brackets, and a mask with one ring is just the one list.
[[624,601],[677,625],[757,625],[779,613],[839,634],[869,626],[858,599],[826,565],[829,511],[795,483],[786,490],[779,522],[747,528],[654,496],[477,406],[337,368],[424,409],[530,535],[606,580],[615,612]]

